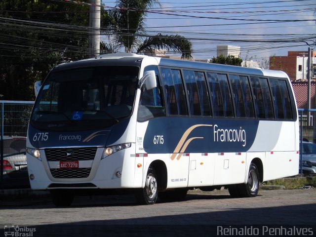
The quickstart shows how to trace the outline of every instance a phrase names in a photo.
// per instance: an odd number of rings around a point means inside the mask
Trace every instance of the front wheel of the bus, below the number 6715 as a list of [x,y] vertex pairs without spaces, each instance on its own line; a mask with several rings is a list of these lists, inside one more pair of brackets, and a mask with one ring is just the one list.
[[157,174],[153,166],[149,166],[145,187],[137,189],[135,192],[136,200],[141,205],[155,204],[158,197]]

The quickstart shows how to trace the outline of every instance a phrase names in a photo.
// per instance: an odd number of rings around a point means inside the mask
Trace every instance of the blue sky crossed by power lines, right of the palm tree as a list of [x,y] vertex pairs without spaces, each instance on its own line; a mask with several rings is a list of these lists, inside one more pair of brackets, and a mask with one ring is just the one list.
[[[184,36],[192,41],[197,59],[216,57],[217,45],[240,46],[243,59],[257,61],[307,51],[307,43],[315,47],[316,0],[159,2],[147,15],[147,34]],[[114,0],[103,3],[115,5]]]

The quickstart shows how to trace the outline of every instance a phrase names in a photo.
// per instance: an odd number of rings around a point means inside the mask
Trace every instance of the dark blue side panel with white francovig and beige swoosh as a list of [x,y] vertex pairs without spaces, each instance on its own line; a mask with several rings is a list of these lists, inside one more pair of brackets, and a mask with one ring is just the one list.
[[[144,136],[146,153],[246,152],[256,137],[258,120],[156,118]],[[161,139],[162,138],[162,139]]]

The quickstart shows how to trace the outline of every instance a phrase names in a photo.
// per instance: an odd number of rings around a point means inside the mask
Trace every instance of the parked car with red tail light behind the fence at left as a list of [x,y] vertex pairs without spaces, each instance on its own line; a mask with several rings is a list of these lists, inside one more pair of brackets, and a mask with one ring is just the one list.
[[25,150],[26,137],[3,137],[3,180],[0,182],[1,188],[30,187]]

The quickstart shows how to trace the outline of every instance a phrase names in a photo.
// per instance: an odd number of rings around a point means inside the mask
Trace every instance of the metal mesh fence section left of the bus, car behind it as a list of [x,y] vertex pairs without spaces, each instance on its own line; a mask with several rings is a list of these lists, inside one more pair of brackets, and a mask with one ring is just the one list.
[[0,101],[0,187],[25,186],[26,135],[33,101]]

